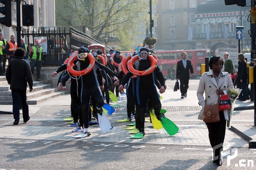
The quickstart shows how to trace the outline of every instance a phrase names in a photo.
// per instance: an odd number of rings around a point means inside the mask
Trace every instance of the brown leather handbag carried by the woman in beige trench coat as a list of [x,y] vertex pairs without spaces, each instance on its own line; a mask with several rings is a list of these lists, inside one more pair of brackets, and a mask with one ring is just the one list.
[[218,102],[212,106],[209,106],[205,103],[204,119],[203,119],[204,122],[206,123],[220,122],[219,100],[220,100],[220,96],[218,97]]

